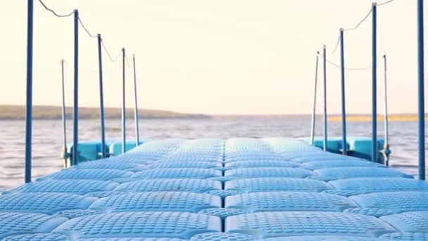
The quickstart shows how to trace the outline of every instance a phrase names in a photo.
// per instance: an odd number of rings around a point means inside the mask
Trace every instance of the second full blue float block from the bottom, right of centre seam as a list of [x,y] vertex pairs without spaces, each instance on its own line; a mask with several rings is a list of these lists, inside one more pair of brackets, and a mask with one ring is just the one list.
[[346,197],[317,192],[252,192],[226,197],[225,207],[256,211],[343,211],[356,207]]

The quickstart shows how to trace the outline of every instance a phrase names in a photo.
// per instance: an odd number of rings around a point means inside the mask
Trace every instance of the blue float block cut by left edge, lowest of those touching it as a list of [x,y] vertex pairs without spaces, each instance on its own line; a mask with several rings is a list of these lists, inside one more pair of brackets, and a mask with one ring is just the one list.
[[67,220],[46,214],[0,212],[0,239],[23,233],[47,233]]

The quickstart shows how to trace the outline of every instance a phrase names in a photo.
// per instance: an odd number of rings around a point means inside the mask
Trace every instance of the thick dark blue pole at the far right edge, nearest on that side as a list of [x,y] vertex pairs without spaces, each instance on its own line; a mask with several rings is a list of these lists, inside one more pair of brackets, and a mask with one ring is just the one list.
[[420,180],[425,180],[424,96],[424,0],[417,0],[417,159]]

